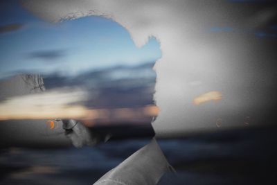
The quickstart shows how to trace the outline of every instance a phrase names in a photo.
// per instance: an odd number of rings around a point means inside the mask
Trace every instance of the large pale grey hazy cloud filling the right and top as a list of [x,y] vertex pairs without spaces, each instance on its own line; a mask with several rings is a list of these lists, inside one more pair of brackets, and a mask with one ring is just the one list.
[[[251,3],[204,0],[22,2],[35,15],[53,22],[89,15],[111,18],[126,28],[136,46],[157,38],[162,58],[154,66],[154,99],[160,112],[153,126],[158,136],[217,129],[217,117],[229,127],[243,125],[245,116],[253,118],[251,125],[260,124],[264,115],[274,112],[276,99],[269,98],[277,93],[273,89],[276,55],[269,50],[274,46],[245,34],[206,31],[214,26],[253,29],[264,25],[276,15],[266,4],[262,8],[269,9],[260,10]],[[202,83],[191,85],[195,81]],[[220,91],[224,99],[193,106],[193,98],[207,91]]]

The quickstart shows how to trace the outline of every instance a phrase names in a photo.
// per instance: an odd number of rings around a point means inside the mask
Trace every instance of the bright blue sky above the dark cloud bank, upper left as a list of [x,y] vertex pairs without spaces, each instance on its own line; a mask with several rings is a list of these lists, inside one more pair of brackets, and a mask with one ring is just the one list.
[[22,72],[75,75],[161,57],[156,39],[138,49],[127,30],[111,19],[84,17],[50,24],[17,1],[1,2],[0,10],[0,78]]

